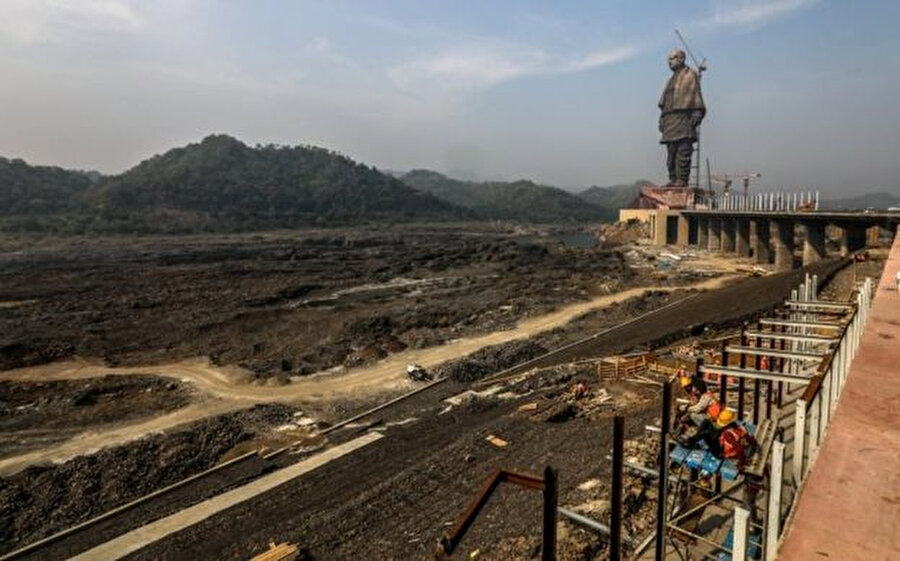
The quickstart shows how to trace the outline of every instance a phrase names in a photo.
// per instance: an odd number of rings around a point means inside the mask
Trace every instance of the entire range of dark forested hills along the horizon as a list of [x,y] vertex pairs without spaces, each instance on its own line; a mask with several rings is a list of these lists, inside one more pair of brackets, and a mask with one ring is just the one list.
[[[312,146],[250,147],[227,135],[153,156],[119,175],[0,158],[0,230],[55,234],[238,232],[378,221],[615,220],[649,182],[578,194],[528,180],[398,177]],[[888,194],[829,208],[900,204]]]

